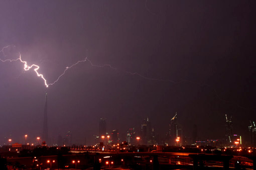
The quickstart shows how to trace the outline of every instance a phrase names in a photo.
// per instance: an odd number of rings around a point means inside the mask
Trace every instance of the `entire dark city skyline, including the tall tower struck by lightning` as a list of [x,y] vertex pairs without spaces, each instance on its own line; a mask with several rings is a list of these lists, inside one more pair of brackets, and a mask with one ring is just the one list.
[[[47,125],[47,93],[45,100],[45,111],[44,111],[44,126],[43,126],[43,137],[34,138],[34,141],[27,141],[28,135],[25,135],[26,146],[36,145],[54,145],[54,146],[70,146],[72,147],[75,143],[72,141],[71,131],[67,131],[65,135],[56,136],[54,142],[49,142],[48,138],[48,125]],[[93,135],[93,145],[109,145],[113,146],[118,143],[127,143],[128,145],[162,145],[165,146],[213,146],[213,147],[255,147],[256,146],[256,125],[254,121],[249,121],[248,132],[245,134],[237,134],[233,131],[232,116],[225,114],[225,121],[223,117],[223,125],[225,129],[225,135],[215,139],[205,139],[198,136],[198,127],[196,124],[192,125],[189,136],[183,134],[182,125],[178,121],[177,112],[169,119],[169,128],[166,129],[162,135],[156,133],[155,128],[152,125],[149,117],[143,119],[140,128],[136,129],[131,127],[125,131],[122,131],[120,135],[118,129],[112,129],[107,131],[107,119],[101,117],[98,122],[98,134]],[[124,136],[125,134],[125,136]],[[53,140],[53,139],[52,139]],[[11,136],[5,137],[2,145],[12,145],[15,142]],[[22,142],[23,143],[23,142]],[[50,143],[50,144],[49,144]],[[52,144],[51,144],[52,143]],[[85,145],[84,141],[84,145]],[[16,143],[15,146],[20,146],[20,143]],[[77,144],[77,143],[76,143]],[[19,149],[19,148],[15,148]]]

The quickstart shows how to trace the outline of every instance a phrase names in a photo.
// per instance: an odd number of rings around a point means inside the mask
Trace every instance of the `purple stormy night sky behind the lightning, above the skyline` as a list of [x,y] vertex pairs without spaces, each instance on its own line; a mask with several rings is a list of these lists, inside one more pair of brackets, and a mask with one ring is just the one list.
[[116,69],[82,62],[46,88],[21,62],[0,62],[0,144],[42,135],[46,90],[54,141],[70,130],[91,144],[100,117],[123,137],[148,116],[164,137],[175,112],[187,136],[197,124],[201,139],[224,138],[226,113],[246,134],[256,120],[255,3],[1,0],[0,48],[16,45],[49,83],[86,56]]

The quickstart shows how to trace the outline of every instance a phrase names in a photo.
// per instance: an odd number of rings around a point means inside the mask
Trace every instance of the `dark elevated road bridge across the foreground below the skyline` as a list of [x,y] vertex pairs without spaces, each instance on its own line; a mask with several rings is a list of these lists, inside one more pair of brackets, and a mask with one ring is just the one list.
[[[49,165],[47,160],[55,160],[53,167],[58,167],[61,159],[65,160],[65,165],[73,167],[72,160],[80,160],[77,168],[91,167],[93,169],[107,168],[106,162],[113,161],[114,166],[131,167],[140,165],[147,169],[205,169],[205,168],[220,168],[229,169],[230,159],[232,155],[220,154],[200,154],[200,153],[187,153],[187,152],[110,152],[110,151],[79,151],[73,150],[72,154],[67,155],[52,155],[40,156],[38,161],[42,163],[42,167],[46,168]],[[250,157],[253,159],[253,157]],[[27,167],[35,161],[33,157],[23,158],[8,158],[8,162],[20,162],[27,164]],[[110,165],[109,165],[110,168]],[[253,159],[253,169],[255,163]]]

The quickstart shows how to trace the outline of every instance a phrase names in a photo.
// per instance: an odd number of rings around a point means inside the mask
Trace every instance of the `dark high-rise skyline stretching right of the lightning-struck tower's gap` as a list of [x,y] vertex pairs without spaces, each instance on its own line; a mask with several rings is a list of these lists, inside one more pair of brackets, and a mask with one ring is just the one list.
[[243,141],[242,135],[233,132],[232,116],[228,117],[225,114],[225,136],[218,139],[200,140],[198,137],[198,128],[196,124],[192,125],[191,135],[185,136],[183,134],[182,126],[178,123],[177,112],[169,121],[169,129],[165,136],[155,133],[154,127],[149,120],[149,117],[142,121],[141,129],[134,127],[127,129],[126,138],[120,141],[119,132],[113,129],[110,133],[106,131],[106,118],[99,120],[99,133],[94,135],[94,142],[103,144],[116,144],[127,142],[132,145],[164,145],[164,146],[182,146],[182,145],[209,145],[209,146],[256,146],[256,125],[254,121],[250,121],[248,126],[249,141]]

